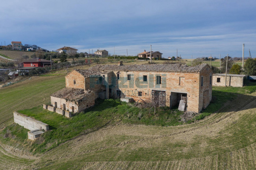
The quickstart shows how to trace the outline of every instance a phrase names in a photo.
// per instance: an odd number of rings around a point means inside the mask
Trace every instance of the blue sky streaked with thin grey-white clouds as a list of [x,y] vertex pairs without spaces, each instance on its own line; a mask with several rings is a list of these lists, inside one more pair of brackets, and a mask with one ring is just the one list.
[[106,49],[163,57],[256,57],[255,0],[12,0],[1,2],[0,41],[47,50]]

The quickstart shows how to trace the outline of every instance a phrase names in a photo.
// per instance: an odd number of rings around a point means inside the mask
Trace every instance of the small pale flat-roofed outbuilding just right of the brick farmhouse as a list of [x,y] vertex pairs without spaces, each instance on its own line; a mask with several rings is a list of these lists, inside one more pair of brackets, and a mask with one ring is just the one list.
[[247,81],[247,75],[244,74],[213,74],[213,86],[232,86],[232,87],[243,87],[245,81]]

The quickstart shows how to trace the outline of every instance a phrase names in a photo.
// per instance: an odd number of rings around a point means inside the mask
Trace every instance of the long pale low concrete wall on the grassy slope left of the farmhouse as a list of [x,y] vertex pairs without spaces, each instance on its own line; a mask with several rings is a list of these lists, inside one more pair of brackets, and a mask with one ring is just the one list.
[[26,115],[22,115],[16,111],[13,112],[13,119],[14,119],[15,123],[19,124],[20,126],[23,126],[26,129],[29,129],[29,130],[35,130],[35,129],[40,129],[40,130],[44,129],[45,131],[49,130],[48,124],[45,124],[38,120],[35,120]]

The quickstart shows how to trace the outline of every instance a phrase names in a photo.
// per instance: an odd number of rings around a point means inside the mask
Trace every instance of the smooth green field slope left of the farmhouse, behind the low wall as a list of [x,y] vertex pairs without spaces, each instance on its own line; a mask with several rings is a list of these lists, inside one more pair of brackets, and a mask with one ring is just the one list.
[[64,76],[33,76],[0,89],[0,127],[13,121],[14,111],[48,103],[50,94],[64,87]]

